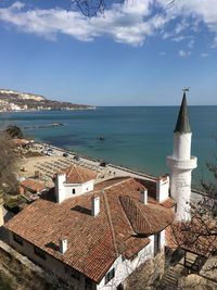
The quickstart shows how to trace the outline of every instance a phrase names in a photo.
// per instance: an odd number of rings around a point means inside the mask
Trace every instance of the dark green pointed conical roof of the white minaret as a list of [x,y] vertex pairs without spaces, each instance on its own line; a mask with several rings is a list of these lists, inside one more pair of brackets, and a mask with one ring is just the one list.
[[183,98],[182,98],[181,106],[179,110],[176,128],[174,131],[175,133],[191,133],[186,91],[183,92]]

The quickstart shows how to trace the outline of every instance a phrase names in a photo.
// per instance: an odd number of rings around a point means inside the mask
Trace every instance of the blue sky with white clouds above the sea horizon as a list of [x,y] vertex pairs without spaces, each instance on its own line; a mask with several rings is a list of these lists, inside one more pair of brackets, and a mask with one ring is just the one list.
[[[81,1],[81,0],[79,0]],[[93,0],[98,3],[99,0]],[[93,105],[217,105],[216,0],[0,0],[0,88]]]

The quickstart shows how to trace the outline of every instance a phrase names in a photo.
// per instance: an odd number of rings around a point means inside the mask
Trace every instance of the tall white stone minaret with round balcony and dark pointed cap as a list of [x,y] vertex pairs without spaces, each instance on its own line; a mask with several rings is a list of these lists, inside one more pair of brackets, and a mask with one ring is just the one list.
[[170,168],[170,196],[177,202],[176,219],[190,220],[191,172],[196,168],[197,159],[191,156],[191,127],[189,123],[186,91],[174,130],[174,154],[167,156]]

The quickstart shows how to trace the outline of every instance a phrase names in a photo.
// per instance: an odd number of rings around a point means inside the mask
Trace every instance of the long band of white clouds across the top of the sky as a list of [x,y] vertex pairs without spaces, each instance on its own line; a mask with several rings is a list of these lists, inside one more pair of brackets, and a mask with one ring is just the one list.
[[[85,17],[79,11],[64,9],[29,9],[16,1],[0,9],[0,21],[17,27],[18,30],[55,39],[59,34],[82,41],[108,36],[117,42],[141,46],[145,38],[159,33],[163,39],[181,41],[199,33],[203,23],[214,33],[217,42],[217,0],[176,0],[167,7],[168,0],[126,0],[113,4],[104,14]],[[169,25],[167,25],[169,23]],[[188,37],[186,36],[188,31]],[[189,40],[187,48],[193,48]],[[187,49],[188,50],[188,49]]]

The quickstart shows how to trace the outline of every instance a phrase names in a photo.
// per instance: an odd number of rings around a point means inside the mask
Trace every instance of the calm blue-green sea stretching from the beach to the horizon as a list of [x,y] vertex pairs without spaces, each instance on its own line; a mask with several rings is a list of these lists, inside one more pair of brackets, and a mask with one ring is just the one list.
[[[24,134],[74,152],[152,175],[168,173],[179,106],[102,106],[84,111],[0,113],[1,128],[17,125]],[[199,167],[193,182],[209,177],[217,162],[217,105],[189,106],[192,155]],[[61,123],[62,126],[50,126]]]

